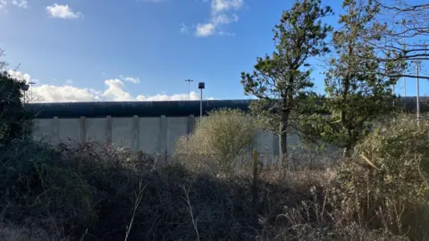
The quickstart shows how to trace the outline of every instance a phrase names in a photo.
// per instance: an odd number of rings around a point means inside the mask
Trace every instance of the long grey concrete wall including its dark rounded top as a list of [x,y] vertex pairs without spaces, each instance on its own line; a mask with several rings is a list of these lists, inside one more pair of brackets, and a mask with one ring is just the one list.
[[[429,97],[421,98],[421,112],[429,112]],[[203,114],[219,108],[248,111],[251,100],[203,101]],[[398,102],[413,112],[416,97]],[[91,102],[26,104],[34,112],[34,136],[56,144],[70,138],[128,146],[149,154],[172,154],[176,141],[192,131],[199,116],[199,101]],[[134,115],[134,116],[133,116]],[[260,153],[279,154],[279,138],[258,130],[253,148]],[[288,137],[288,149],[299,147],[298,137]]]

